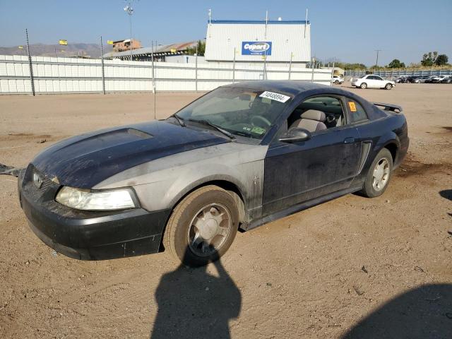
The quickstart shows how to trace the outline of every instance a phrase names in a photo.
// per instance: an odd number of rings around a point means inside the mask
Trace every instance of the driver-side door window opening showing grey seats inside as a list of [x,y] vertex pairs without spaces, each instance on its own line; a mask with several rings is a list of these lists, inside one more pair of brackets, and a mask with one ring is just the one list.
[[287,119],[287,129],[300,127],[311,133],[343,125],[345,115],[341,100],[326,95],[304,100]]

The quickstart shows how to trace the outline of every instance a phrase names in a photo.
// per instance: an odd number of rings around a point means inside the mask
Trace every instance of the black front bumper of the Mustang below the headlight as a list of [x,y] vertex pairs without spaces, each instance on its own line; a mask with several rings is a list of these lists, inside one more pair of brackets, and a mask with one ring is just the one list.
[[[31,172],[30,166],[27,172]],[[81,260],[105,260],[156,253],[171,210],[90,212],[73,210],[54,201],[57,187],[44,192],[18,178],[20,206],[30,228],[55,251]],[[25,179],[24,179],[25,177]]]

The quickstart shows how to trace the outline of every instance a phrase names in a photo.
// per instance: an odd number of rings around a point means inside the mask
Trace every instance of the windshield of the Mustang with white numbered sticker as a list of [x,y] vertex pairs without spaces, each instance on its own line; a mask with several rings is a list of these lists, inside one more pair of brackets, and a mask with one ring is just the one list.
[[[177,112],[184,121],[206,121],[237,136],[261,139],[292,97],[251,88],[217,88]],[[189,122],[190,124],[190,122]]]

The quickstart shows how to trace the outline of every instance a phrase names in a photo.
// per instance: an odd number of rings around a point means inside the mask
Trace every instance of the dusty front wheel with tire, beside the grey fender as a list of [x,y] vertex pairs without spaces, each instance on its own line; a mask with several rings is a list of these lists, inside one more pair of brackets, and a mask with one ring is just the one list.
[[174,208],[163,245],[175,261],[191,267],[204,266],[225,254],[238,227],[239,210],[234,198],[218,186],[204,186]]

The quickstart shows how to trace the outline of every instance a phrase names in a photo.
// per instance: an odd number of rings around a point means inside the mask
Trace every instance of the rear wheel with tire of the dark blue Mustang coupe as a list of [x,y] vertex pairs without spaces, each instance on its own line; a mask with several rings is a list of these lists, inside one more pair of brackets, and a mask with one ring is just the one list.
[[[387,172],[386,170],[382,170],[382,172],[378,172],[376,169],[377,166],[381,165],[387,166]],[[385,168],[386,168],[385,166]],[[376,185],[376,181],[374,182],[374,172],[377,175],[377,178],[380,176],[381,173],[387,174],[386,178],[380,185]],[[383,148],[380,150],[379,154],[376,155],[374,161],[372,162],[372,165],[369,167],[369,172],[367,172],[366,181],[364,182],[364,186],[362,190],[359,192],[364,196],[367,196],[367,198],[375,198],[376,196],[381,196],[381,194],[386,191],[386,188],[388,187],[389,181],[391,179],[391,175],[393,172],[393,156],[391,155],[391,152],[387,148]],[[381,177],[383,179],[384,175]]]

